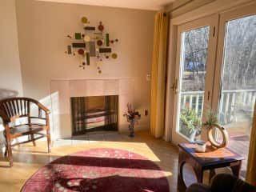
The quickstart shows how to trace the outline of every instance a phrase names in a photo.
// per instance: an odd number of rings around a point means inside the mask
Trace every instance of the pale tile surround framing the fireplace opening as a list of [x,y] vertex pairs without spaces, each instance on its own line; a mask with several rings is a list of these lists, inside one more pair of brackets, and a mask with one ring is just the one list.
[[134,79],[53,80],[50,82],[54,139],[72,135],[70,97],[118,95],[118,131],[127,131],[122,114],[127,102],[134,103]]

